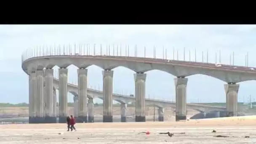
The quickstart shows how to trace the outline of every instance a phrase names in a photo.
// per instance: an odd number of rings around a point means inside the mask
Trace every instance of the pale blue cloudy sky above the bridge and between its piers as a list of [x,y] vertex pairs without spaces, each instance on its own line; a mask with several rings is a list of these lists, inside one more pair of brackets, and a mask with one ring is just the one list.
[[[134,55],[134,45],[137,45],[138,56],[144,56],[146,46],[147,56],[153,57],[153,47],[156,56],[163,57],[163,46],[167,48],[168,59],[175,59],[179,51],[179,59],[183,60],[185,48],[186,60],[215,62],[215,53],[221,63],[229,64],[230,53],[235,53],[235,65],[245,65],[245,55],[248,52],[248,65],[256,67],[255,50],[256,25],[0,25],[0,102],[28,102],[28,76],[21,69],[21,54],[29,47],[37,45],[56,44],[125,44],[130,46],[130,55]],[[92,53],[91,49],[91,53]],[[96,48],[99,52],[99,48]],[[104,48],[103,48],[103,51]],[[55,67],[54,69],[57,69]],[[69,66],[68,81],[77,83],[77,67]],[[101,68],[88,68],[88,86],[102,89]],[[114,87],[116,93],[134,93],[133,71],[124,67],[114,69]],[[55,74],[56,75],[56,74]],[[173,75],[158,70],[147,72],[146,96],[154,99],[175,100]],[[225,102],[224,82],[204,75],[188,77],[187,102]],[[248,101],[251,94],[256,98],[255,81],[240,83],[239,101]],[[69,94],[69,101],[72,95]]]

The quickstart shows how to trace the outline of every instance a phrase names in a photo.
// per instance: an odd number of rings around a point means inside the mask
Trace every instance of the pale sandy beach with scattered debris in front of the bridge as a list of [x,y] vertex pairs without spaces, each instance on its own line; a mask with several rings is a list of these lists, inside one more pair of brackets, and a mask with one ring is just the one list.
[[[0,144],[255,144],[256,116],[184,122],[0,125]],[[216,133],[211,133],[215,129]],[[146,135],[145,132],[150,134]],[[173,137],[160,132],[170,131]],[[185,133],[185,134],[180,134]],[[216,135],[227,138],[213,137]],[[250,138],[244,138],[250,136]]]

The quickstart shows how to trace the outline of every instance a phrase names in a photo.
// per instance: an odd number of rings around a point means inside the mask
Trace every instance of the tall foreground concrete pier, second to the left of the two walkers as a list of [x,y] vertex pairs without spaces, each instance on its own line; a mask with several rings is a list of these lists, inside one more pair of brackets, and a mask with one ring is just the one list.
[[53,116],[53,69],[45,69],[45,123],[56,123]]

